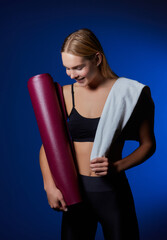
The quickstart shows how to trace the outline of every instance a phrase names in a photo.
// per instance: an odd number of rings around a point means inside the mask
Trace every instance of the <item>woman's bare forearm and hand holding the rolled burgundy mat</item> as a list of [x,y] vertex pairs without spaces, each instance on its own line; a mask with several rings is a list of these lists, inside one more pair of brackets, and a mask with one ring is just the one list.
[[41,146],[39,152],[39,163],[43,176],[44,189],[46,191],[50,207],[56,210],[67,211],[63,195],[53,181],[43,145]]

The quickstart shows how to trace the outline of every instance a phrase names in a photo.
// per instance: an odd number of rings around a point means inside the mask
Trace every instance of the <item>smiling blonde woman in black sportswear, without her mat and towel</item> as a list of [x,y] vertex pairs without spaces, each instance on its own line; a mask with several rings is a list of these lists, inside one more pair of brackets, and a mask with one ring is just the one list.
[[[110,69],[98,39],[88,29],[70,34],[61,54],[67,75],[76,81],[63,86],[63,94],[83,202],[67,209],[62,193],[53,182],[43,146],[40,167],[49,205],[63,211],[62,239],[92,240],[100,222],[107,240],[137,240],[134,202],[124,171],[142,163],[155,151],[154,104],[149,88],[141,91],[135,110],[105,156],[90,162],[104,105],[119,78]],[[139,147],[122,158],[124,142],[128,139],[139,141]]]

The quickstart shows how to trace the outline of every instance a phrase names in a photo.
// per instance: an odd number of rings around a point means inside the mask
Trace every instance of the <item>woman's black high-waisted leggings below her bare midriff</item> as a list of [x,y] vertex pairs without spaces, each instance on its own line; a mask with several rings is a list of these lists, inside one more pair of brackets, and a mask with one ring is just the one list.
[[132,193],[124,173],[116,177],[79,175],[83,202],[63,212],[62,240],[93,240],[100,222],[106,240],[138,240]]

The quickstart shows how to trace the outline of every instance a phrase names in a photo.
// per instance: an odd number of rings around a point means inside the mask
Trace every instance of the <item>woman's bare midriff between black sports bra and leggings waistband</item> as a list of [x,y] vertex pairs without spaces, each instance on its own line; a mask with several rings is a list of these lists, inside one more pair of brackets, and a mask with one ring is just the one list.
[[[76,161],[78,165],[79,173],[85,176],[99,176],[96,175],[90,169],[90,155],[93,147],[93,142],[73,142],[76,154]],[[120,160],[122,155],[122,144],[117,145],[117,149],[115,149],[112,154],[114,161]]]

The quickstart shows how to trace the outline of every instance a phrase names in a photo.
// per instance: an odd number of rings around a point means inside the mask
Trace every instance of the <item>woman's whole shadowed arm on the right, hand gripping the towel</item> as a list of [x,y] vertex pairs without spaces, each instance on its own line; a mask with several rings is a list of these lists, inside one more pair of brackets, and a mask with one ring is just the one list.
[[149,87],[145,87],[140,95],[136,110],[124,131],[125,139],[139,141],[139,147],[127,157],[109,164],[108,158],[93,159],[90,167],[98,175],[106,175],[109,170],[121,172],[139,165],[153,155],[156,149],[154,136],[154,102]]

